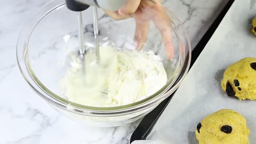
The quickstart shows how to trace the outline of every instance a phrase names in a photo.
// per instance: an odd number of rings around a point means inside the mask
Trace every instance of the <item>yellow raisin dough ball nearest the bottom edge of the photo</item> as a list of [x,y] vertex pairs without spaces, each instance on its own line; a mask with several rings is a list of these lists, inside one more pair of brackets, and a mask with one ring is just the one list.
[[230,109],[222,109],[197,124],[199,144],[248,144],[250,130],[246,119]]

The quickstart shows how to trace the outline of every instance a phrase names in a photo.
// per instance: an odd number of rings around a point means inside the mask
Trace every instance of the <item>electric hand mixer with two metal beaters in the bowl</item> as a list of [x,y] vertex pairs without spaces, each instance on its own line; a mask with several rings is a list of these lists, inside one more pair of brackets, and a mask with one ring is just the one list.
[[[93,28],[94,28],[94,45],[95,45],[95,62],[97,65],[100,62],[100,49],[99,49],[99,30],[98,30],[98,10],[97,7],[101,9],[106,9],[110,11],[118,10],[125,0],[66,0],[66,5],[69,10],[78,12],[78,38],[79,38],[79,58],[81,59],[81,65],[83,70],[83,76],[81,77],[83,82],[86,82],[89,78],[86,75],[86,62],[85,62],[85,44],[84,44],[84,30],[83,30],[83,20],[82,20],[82,11],[88,9],[90,6],[93,6]],[[88,70],[88,69],[87,69]],[[102,90],[99,90],[102,94],[107,94]]]

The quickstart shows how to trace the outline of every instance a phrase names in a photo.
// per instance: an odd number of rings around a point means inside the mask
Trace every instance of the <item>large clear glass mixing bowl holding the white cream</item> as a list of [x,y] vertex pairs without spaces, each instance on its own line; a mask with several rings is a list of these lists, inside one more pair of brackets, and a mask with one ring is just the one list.
[[[167,83],[161,90],[143,100],[118,107],[92,107],[71,102],[60,89],[60,79],[68,68],[67,54],[78,52],[77,12],[67,9],[65,3],[56,0],[38,11],[22,28],[17,42],[17,60],[22,76],[29,86],[60,113],[77,119],[86,125],[117,126],[130,123],[148,114],[160,102],[169,97],[180,85],[188,72],[191,47],[186,30],[175,15],[163,5],[144,7],[143,17],[157,18],[167,23],[171,30],[174,58],[169,60],[164,50],[159,27],[151,21],[143,51],[160,55],[167,73]],[[159,10],[165,14],[159,14]],[[83,12],[84,41],[86,49],[94,49],[93,10]],[[133,18],[116,21],[99,10],[100,44],[114,44],[130,49],[137,45],[133,41],[135,21]],[[86,96],[86,95],[85,95]]]

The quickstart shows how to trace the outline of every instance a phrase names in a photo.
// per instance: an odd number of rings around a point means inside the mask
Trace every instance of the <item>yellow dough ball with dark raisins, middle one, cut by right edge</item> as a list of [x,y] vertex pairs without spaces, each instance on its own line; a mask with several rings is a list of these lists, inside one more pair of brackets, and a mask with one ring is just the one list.
[[221,85],[229,97],[256,100],[256,58],[245,58],[230,65]]

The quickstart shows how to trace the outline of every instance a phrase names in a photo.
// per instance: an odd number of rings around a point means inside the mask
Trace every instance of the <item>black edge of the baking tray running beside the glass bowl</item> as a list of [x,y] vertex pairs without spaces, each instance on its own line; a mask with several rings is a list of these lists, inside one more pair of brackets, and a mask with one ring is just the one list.
[[[218,17],[214,20],[211,27],[206,31],[202,39],[198,42],[195,49],[192,52],[191,64],[190,68],[193,66],[194,62],[198,58],[199,54],[203,51],[205,45],[212,37],[214,31],[218,28],[220,22],[225,17],[226,13],[228,12],[231,5],[234,3],[235,0],[230,0],[223,10],[220,12]],[[189,69],[190,69],[189,68]],[[175,92],[174,92],[175,93]],[[146,140],[148,134],[151,132],[153,127],[155,126],[158,118],[162,115],[164,109],[167,107],[168,103],[171,101],[173,94],[170,95],[167,99],[162,101],[153,111],[151,111],[148,115],[146,115],[141,123],[138,125],[137,129],[133,132],[130,143],[134,140]]]

